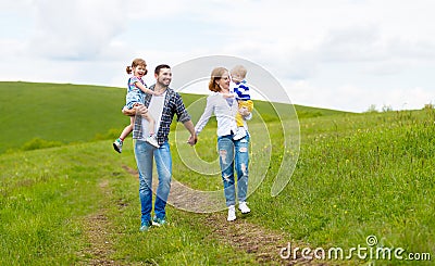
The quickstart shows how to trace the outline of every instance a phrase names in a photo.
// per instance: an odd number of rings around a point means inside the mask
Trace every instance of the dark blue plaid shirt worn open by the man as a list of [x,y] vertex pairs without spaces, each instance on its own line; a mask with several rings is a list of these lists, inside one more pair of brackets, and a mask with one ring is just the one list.
[[[154,90],[154,86],[152,85],[149,89]],[[151,102],[151,94],[147,94],[144,100],[144,105],[149,106]],[[175,92],[173,89],[166,89],[166,96],[164,98],[163,103],[163,112],[159,126],[159,130],[157,132],[157,141],[159,144],[163,144],[167,141],[167,136],[170,135],[170,127],[174,114],[177,115],[177,122],[188,122],[190,121],[190,115],[187,113],[186,107],[184,106],[182,97]],[[133,129],[133,138],[134,139],[145,139],[142,132],[142,117],[140,115],[136,115],[135,117],[135,126]]]

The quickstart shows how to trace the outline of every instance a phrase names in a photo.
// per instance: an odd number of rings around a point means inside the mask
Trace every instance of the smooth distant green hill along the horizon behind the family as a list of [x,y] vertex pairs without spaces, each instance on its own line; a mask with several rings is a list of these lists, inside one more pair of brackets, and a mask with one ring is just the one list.
[[[189,112],[199,117],[206,96],[183,94]],[[0,83],[0,153],[9,149],[115,138],[128,117],[121,114],[125,89],[71,84]],[[275,109],[276,110],[275,110]],[[341,112],[295,106],[299,117]],[[256,102],[265,121],[278,121],[276,111],[289,115],[286,104]],[[300,113],[299,113],[300,112]],[[289,117],[282,117],[284,119]],[[254,121],[260,119],[259,116]]]

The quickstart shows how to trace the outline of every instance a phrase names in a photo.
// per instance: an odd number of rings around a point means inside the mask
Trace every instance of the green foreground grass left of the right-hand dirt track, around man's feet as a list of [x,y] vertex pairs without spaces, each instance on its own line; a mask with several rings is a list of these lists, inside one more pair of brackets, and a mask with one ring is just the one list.
[[[126,149],[132,149],[132,147]],[[170,207],[171,225],[141,233],[137,180],[110,141],[0,155],[0,265],[72,265],[92,258],[86,217],[105,210],[108,238],[122,264],[220,265],[252,256],[213,239],[191,215]],[[100,183],[107,181],[107,191]],[[223,255],[226,254],[226,255]]]

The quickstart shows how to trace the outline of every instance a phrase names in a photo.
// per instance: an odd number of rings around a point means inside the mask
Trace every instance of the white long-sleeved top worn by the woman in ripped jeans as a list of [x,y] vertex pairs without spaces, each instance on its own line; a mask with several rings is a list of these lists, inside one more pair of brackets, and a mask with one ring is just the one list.
[[[229,105],[227,100],[233,104]],[[234,134],[237,130],[237,112],[238,104],[234,98],[225,99],[222,93],[213,92],[207,98],[206,110],[195,126],[195,131],[197,134],[201,132],[202,128],[207,125],[214,113],[217,121],[217,137]],[[250,119],[251,117],[252,116],[249,115],[249,117],[246,117],[245,119]],[[247,129],[248,127],[246,122],[244,122],[244,124]]]

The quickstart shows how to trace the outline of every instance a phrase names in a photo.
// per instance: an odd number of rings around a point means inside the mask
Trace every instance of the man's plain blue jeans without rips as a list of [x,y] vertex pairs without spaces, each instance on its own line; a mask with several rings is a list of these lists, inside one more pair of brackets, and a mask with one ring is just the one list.
[[135,156],[139,172],[139,199],[141,205],[141,225],[151,219],[152,211],[152,159],[156,161],[159,185],[156,192],[154,216],[164,219],[165,206],[171,189],[172,157],[170,145],[166,142],[159,149],[151,144],[136,140]]

